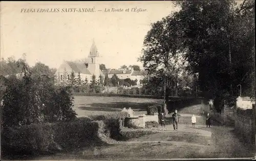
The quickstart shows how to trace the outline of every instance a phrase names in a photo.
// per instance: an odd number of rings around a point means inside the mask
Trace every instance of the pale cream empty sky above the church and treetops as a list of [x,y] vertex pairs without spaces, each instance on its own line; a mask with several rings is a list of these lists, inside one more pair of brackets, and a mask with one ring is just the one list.
[[[132,8],[146,9],[131,12]],[[94,8],[95,12],[62,12]],[[105,9],[123,12],[104,12]],[[125,9],[129,8],[129,12]],[[27,12],[57,9],[59,12]],[[101,11],[98,11],[101,10]],[[139,65],[150,24],[177,10],[171,1],[148,2],[1,2],[1,58],[22,58],[58,67],[63,60],[88,57],[93,39],[107,68]],[[46,11],[46,10],[45,10]]]

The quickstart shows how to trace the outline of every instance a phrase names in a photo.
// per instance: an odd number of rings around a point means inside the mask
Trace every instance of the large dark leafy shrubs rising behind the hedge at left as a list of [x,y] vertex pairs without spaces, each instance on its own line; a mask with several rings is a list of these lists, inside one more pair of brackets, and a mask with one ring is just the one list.
[[[49,74],[34,74],[20,59],[24,77],[4,78],[2,126],[71,121],[76,118],[72,109],[73,97],[67,87],[54,86]],[[33,70],[32,70],[33,71]]]

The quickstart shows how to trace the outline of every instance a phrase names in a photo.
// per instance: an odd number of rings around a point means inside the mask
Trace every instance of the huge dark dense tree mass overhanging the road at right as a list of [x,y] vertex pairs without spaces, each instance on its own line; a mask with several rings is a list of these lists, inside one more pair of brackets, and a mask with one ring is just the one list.
[[[248,8],[243,12],[246,3]],[[175,14],[176,29],[183,39],[180,49],[189,61],[190,72],[199,74],[204,96],[228,100],[237,94],[234,88],[238,84],[243,90],[253,88],[254,2],[245,1],[239,8],[234,1],[177,4],[181,7]]]

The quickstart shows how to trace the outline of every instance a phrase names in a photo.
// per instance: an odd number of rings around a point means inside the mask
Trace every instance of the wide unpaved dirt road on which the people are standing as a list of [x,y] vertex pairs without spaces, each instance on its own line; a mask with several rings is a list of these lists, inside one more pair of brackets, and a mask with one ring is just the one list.
[[[39,159],[157,159],[157,158],[234,158],[252,157],[252,151],[234,136],[233,128],[206,128],[199,107],[190,106],[179,112],[183,116],[178,131],[166,125],[164,131],[142,136],[107,147],[42,157]],[[184,113],[183,113],[184,112]],[[190,117],[198,115],[199,125],[192,128]],[[38,159],[38,158],[37,158]]]

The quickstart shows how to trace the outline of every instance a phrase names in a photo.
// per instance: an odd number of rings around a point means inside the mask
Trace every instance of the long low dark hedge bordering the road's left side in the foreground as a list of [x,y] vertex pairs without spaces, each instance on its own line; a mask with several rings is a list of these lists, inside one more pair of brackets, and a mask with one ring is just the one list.
[[120,134],[119,120],[124,112],[94,118],[77,118],[72,122],[24,125],[1,130],[3,156],[55,153],[88,146],[105,145]]

